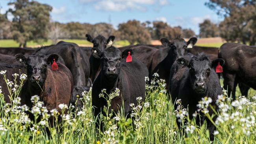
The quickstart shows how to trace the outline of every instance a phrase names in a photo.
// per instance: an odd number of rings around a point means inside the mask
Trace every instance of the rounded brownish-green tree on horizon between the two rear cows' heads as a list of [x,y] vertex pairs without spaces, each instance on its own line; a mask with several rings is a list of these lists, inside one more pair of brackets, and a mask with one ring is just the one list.
[[150,33],[137,20],[129,20],[126,23],[119,24],[118,30],[121,33],[121,39],[129,41],[130,44],[135,42],[149,44],[151,41]]

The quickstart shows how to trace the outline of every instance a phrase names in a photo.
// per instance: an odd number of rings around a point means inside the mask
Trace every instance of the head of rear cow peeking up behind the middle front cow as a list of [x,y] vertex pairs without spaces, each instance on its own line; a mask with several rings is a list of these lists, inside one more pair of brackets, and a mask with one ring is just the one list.
[[94,48],[98,48],[100,52],[103,52],[104,49],[108,48],[109,46],[112,46],[113,41],[115,39],[115,36],[111,35],[108,39],[103,37],[102,35],[98,35],[97,37],[93,38],[91,35],[86,34],[85,37],[87,38],[87,41],[93,43]]

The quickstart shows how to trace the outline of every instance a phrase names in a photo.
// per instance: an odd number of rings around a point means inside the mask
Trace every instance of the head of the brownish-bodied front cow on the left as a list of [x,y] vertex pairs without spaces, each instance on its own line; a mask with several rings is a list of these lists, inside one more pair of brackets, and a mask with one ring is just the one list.
[[28,58],[23,54],[15,55],[15,58],[20,62],[24,63],[27,68],[28,81],[34,85],[42,86],[45,83],[47,77],[47,67],[52,65],[53,59],[58,61],[59,55],[42,55],[35,53]]

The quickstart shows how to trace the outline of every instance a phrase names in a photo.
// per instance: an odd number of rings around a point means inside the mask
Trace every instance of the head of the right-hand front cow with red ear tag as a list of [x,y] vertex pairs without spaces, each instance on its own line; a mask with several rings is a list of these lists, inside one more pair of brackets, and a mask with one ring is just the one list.
[[210,81],[210,74],[215,72],[218,62],[220,62],[220,65],[224,65],[223,59],[211,61],[203,53],[194,56],[189,63],[186,61],[189,67],[190,85],[196,93],[204,94],[206,92]]

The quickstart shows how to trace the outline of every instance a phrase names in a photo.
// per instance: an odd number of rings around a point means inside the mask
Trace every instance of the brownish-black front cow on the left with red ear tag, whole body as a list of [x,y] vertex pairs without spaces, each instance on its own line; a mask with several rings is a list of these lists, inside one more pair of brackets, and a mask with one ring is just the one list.
[[[58,63],[57,54],[46,56],[35,53],[28,58],[17,54],[15,57],[26,65],[28,76],[20,92],[21,104],[31,108],[31,97],[38,95],[48,111],[59,111],[58,105],[61,103],[69,105],[73,89],[72,74],[65,65]],[[51,69],[54,59],[58,64],[58,70]]]

